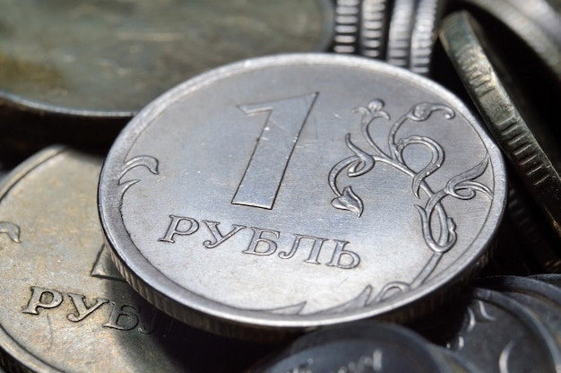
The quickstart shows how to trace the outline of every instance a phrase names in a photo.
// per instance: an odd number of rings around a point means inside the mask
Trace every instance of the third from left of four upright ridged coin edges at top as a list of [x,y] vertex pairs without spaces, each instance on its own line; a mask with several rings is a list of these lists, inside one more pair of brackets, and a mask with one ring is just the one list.
[[411,31],[419,0],[394,0],[385,61],[394,66],[409,67]]

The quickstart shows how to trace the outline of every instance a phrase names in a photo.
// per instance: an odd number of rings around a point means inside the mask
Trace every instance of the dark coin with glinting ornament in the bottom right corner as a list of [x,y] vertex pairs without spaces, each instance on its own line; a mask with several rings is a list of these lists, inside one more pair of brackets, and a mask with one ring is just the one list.
[[448,345],[485,372],[557,372],[561,354],[537,317],[498,291],[474,289]]

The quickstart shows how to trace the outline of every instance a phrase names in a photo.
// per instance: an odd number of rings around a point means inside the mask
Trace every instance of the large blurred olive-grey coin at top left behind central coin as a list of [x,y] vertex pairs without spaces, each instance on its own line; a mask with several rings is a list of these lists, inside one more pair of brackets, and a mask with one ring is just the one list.
[[0,3],[0,98],[80,117],[130,117],[171,86],[251,56],[320,51],[329,0]]

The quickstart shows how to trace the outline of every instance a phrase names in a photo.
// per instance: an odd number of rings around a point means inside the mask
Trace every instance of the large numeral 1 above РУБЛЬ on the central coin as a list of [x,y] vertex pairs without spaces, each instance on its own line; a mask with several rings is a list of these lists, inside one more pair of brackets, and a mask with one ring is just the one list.
[[246,115],[263,111],[268,111],[269,115],[232,204],[272,209],[290,156],[316,97],[317,92],[238,107]]

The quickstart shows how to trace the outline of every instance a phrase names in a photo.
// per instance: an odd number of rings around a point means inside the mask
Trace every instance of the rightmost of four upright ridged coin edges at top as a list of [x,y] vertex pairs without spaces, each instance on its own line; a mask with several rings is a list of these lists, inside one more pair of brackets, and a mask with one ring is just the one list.
[[430,74],[433,46],[444,12],[445,0],[419,0],[411,30],[410,71]]

